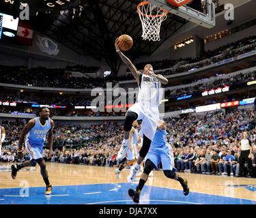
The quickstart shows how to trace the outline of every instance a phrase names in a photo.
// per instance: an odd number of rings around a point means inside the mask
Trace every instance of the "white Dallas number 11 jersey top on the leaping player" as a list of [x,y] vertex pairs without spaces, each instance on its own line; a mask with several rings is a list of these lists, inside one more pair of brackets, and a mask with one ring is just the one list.
[[138,103],[150,104],[150,108],[158,108],[162,100],[162,87],[158,78],[141,74]]

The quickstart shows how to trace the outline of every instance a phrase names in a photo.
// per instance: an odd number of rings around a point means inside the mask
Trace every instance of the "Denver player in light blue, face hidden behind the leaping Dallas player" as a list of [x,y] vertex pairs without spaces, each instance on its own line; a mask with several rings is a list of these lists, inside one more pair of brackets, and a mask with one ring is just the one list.
[[129,189],[128,191],[129,196],[135,203],[139,203],[139,196],[143,186],[145,185],[150,172],[154,168],[157,169],[159,163],[162,163],[162,170],[165,176],[167,176],[167,178],[172,178],[179,181],[183,187],[183,193],[185,196],[187,196],[189,193],[188,181],[175,173],[173,151],[171,146],[167,143],[166,136],[167,131],[165,122],[159,121],[154,140],[150,146],[150,151],[145,157],[145,168],[143,174],[141,174],[139,185],[137,186],[136,190]]

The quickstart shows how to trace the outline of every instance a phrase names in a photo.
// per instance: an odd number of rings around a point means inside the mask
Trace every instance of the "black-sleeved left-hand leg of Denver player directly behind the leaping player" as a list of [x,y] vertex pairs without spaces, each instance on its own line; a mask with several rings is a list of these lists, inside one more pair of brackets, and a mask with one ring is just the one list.
[[132,200],[135,203],[139,203],[139,196],[141,194],[141,191],[142,191],[145,183],[147,182],[147,178],[148,178],[150,172],[154,168],[156,168],[156,165],[150,159],[147,159],[145,161],[145,167],[144,167],[143,173],[141,174],[141,178],[139,180],[139,185],[137,186],[136,190],[133,190],[133,189],[128,190],[128,194],[129,194],[130,198],[132,198]]

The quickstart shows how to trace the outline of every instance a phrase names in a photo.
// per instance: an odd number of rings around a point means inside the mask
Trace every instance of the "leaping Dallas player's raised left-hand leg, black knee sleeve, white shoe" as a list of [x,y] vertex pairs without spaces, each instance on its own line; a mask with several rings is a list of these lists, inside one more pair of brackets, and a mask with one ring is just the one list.
[[117,153],[117,159],[124,159],[126,157],[126,153],[129,149],[129,134],[130,129],[132,129],[132,123],[136,121],[138,118],[138,114],[132,111],[128,111],[126,113],[126,119],[124,121],[124,140],[122,142],[122,146]]

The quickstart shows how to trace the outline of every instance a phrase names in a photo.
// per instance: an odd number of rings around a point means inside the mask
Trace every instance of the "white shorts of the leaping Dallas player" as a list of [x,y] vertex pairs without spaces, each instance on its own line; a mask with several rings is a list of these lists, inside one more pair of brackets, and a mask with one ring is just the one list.
[[[156,133],[156,127],[159,121],[159,110],[158,108],[151,108],[149,104],[143,104],[137,102],[131,106],[128,111],[135,112],[138,114],[137,120],[142,120],[141,131],[139,134],[143,137],[143,134],[153,141]],[[128,112],[127,111],[127,112]]]

